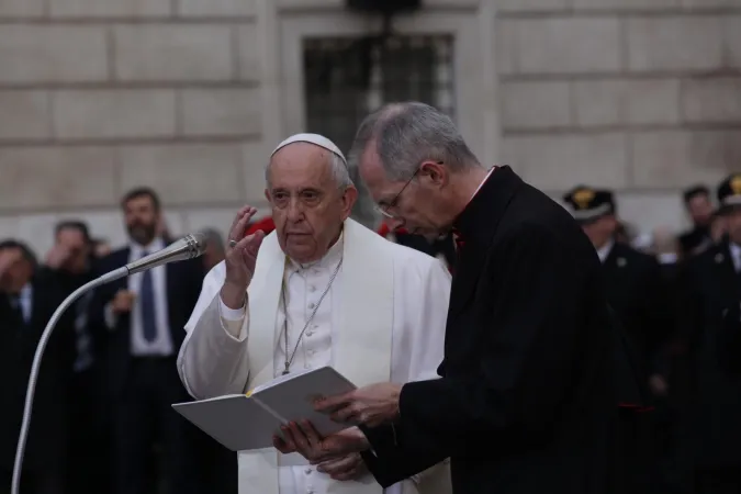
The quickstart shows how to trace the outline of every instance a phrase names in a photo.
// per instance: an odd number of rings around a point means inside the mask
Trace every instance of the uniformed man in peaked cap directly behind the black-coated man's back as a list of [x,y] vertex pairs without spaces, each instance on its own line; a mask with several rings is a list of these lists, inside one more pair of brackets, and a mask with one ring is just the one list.
[[597,250],[607,301],[632,349],[629,363],[633,372],[619,377],[640,380],[619,388],[631,391],[618,397],[624,430],[620,448],[626,461],[624,492],[645,493],[652,490],[655,476],[655,424],[653,414],[648,413],[654,409],[654,400],[649,396],[647,383],[661,341],[671,328],[661,268],[654,257],[616,242],[617,211],[610,191],[580,186],[563,200]]

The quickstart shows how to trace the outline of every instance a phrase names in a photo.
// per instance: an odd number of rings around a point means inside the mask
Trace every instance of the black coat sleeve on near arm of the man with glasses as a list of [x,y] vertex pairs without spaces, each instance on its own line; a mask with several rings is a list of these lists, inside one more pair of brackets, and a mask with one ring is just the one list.
[[[496,448],[509,440],[527,441],[552,427],[582,345],[584,300],[592,299],[585,293],[585,277],[597,269],[596,256],[579,256],[539,225],[519,228],[489,254],[480,279],[489,287],[480,292],[489,291],[492,299],[481,301],[479,313],[482,327],[476,330],[486,335],[474,356],[479,373],[403,386],[398,446],[393,454],[379,447],[374,471],[380,478],[401,480],[418,473],[424,468],[408,462],[417,462],[414,454],[424,451],[438,461],[475,456],[482,441]],[[422,463],[429,467],[428,462]]]

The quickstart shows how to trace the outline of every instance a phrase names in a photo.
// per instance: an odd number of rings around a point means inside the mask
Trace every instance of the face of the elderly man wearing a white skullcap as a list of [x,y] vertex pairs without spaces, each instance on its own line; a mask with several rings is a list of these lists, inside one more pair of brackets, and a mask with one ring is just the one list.
[[330,159],[322,147],[293,143],[270,160],[266,197],[278,243],[297,262],[312,262],[327,252],[357,199],[355,188],[338,188]]

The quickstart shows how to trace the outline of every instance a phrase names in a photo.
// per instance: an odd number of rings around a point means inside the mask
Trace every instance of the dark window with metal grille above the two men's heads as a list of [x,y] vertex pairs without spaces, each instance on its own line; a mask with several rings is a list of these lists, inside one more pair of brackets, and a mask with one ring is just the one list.
[[[452,53],[451,35],[304,40],[306,132],[347,151],[362,119],[394,101],[422,101],[456,120]],[[369,210],[358,201],[353,215],[370,223]]]

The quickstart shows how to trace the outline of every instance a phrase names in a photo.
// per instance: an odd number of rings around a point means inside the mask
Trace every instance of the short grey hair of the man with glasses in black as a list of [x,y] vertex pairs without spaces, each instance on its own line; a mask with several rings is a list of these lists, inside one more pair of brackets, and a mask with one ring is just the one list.
[[368,115],[349,153],[353,166],[371,142],[390,180],[409,179],[425,160],[452,171],[481,167],[452,120],[425,103],[391,103]]

